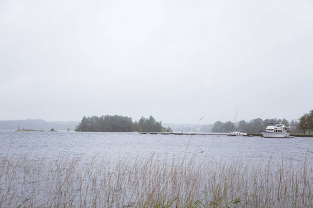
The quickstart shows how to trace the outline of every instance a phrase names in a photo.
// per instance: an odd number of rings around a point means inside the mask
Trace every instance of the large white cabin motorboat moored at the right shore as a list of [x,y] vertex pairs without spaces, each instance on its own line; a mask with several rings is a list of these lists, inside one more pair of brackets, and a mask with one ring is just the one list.
[[289,134],[290,128],[282,123],[268,123],[266,130],[262,131],[262,135],[265,138],[294,138]]

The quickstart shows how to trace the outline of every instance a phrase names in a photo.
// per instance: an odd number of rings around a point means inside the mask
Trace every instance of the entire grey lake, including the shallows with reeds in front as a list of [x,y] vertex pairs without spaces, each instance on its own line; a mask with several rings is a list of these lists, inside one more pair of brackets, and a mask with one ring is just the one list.
[[312,207],[309,137],[1,130],[0,144],[0,207]]

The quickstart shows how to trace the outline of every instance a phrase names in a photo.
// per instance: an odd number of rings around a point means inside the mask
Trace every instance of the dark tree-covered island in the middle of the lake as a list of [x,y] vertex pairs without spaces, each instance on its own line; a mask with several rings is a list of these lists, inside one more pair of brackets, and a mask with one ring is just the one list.
[[161,121],[152,116],[149,119],[143,116],[139,121],[133,122],[131,117],[106,115],[83,116],[79,125],[74,129],[77,132],[172,132],[170,127],[164,128]]

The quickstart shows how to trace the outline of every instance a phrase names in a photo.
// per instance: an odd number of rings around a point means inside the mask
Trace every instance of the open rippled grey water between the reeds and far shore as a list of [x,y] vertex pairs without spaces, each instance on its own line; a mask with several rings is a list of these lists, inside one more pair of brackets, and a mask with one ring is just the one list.
[[[28,155],[31,158],[80,155],[87,157],[136,157],[138,155],[243,161],[277,161],[292,157],[303,162],[313,157],[313,138],[271,139],[263,137],[228,137],[226,135],[141,135],[119,132],[15,132],[0,131],[0,158]],[[188,147],[188,148],[187,148]]]

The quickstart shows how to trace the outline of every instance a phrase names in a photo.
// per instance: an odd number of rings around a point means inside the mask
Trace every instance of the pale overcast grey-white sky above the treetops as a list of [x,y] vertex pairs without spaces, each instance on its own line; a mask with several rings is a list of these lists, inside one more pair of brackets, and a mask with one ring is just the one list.
[[0,120],[299,119],[313,110],[312,10],[311,0],[1,0]]

